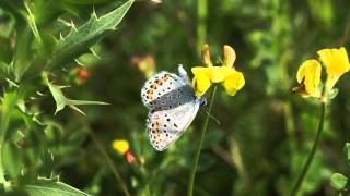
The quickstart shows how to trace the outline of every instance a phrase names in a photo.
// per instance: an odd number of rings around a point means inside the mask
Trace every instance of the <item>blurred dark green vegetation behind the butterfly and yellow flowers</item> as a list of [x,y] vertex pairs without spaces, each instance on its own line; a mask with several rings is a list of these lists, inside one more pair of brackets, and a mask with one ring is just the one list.
[[[0,59],[5,63],[15,53],[14,42],[24,41],[16,37],[19,24],[25,23],[19,11],[23,2],[13,2],[19,7],[0,2]],[[36,22],[45,37],[63,29],[63,20],[79,26],[94,10],[101,15],[121,1],[28,2],[36,9],[34,14],[43,14],[36,15]],[[235,66],[246,84],[234,97],[219,88],[211,114],[220,125],[209,123],[195,195],[287,195],[311,149],[319,114],[317,101],[291,94],[298,85],[298,68],[317,58],[316,51],[323,48],[345,46],[349,51],[349,11],[347,0],[136,1],[117,30],[93,46],[100,58],[86,53],[79,58],[84,66],[75,63],[54,72],[55,84],[71,86],[63,89],[69,97],[109,106],[81,107],[86,117],[68,108],[54,115],[48,88],[40,88],[45,96],[27,103],[42,112],[38,119],[46,123],[45,128],[25,134],[25,147],[42,149],[34,151],[42,161],[24,161],[27,175],[60,175],[62,182],[92,195],[122,195],[93,140],[97,138],[131,195],[185,195],[206,112],[200,110],[184,136],[158,152],[148,140],[148,110],[140,89],[152,73],[175,72],[177,64],[190,73],[191,66],[201,64],[199,51],[207,42],[218,62],[223,45],[235,49]],[[320,145],[301,195],[336,195],[331,174],[350,174],[343,154],[350,140],[347,74],[337,87],[339,94],[328,107]],[[118,155],[112,148],[114,139],[127,139],[138,161],[128,163]]]

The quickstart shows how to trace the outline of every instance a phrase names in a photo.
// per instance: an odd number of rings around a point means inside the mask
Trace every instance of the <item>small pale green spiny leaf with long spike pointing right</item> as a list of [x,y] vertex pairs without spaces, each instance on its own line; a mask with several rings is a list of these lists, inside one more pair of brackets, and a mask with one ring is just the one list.
[[85,113],[83,111],[81,111],[77,106],[79,105],[108,105],[106,102],[102,102],[102,101],[89,101],[89,100],[73,100],[73,99],[69,99],[67,98],[63,93],[62,93],[62,88],[65,88],[66,86],[58,86],[58,85],[54,85],[48,81],[47,74],[44,74],[45,81],[46,81],[46,85],[48,86],[48,88],[51,91],[51,95],[56,101],[56,111],[55,114],[61,110],[63,110],[63,108],[66,106],[69,106],[71,109],[80,112],[81,114],[85,115]]

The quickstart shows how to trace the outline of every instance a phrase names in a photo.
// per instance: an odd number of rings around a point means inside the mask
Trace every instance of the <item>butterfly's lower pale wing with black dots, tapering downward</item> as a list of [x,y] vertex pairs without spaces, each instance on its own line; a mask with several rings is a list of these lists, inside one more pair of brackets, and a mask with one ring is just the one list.
[[200,100],[185,102],[168,110],[151,110],[147,120],[147,128],[152,146],[163,151],[178,139],[194,121]]

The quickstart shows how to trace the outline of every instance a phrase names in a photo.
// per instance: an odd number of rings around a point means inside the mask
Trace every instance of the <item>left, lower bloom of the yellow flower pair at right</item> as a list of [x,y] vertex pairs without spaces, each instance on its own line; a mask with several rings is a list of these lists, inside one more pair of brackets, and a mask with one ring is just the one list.
[[320,64],[312,59],[305,61],[296,73],[296,81],[301,84],[298,93],[305,97],[320,97]]

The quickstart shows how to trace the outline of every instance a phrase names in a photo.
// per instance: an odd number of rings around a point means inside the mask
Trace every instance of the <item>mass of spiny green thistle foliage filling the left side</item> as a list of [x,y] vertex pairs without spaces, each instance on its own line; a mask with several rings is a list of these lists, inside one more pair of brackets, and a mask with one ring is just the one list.
[[[79,27],[71,23],[68,27],[70,29],[58,25],[63,21],[61,17],[65,17],[65,10],[77,13],[83,8],[74,5],[74,1],[55,2],[0,2],[0,24],[4,24],[2,26],[7,28],[0,36],[1,40],[5,40],[4,47],[0,49],[0,77],[3,87],[0,105],[2,194],[26,192],[30,195],[88,195],[58,180],[37,177],[52,175],[55,167],[65,166],[67,160],[71,160],[61,157],[71,155],[79,158],[77,147],[86,137],[86,132],[80,128],[63,136],[62,126],[56,122],[55,117],[43,112],[40,102],[49,91],[56,102],[55,113],[69,106],[85,114],[77,106],[106,105],[101,101],[69,99],[61,91],[63,86],[55,85],[50,79],[65,81],[65,66],[78,62],[77,58],[92,51],[94,44],[115,30],[133,0],[117,8],[110,4],[109,8],[115,9],[105,11],[107,13],[100,17],[92,9],[90,20]],[[92,5],[97,1],[84,3]],[[51,9],[52,12],[47,12]],[[62,36],[62,32],[67,30],[69,33]],[[56,40],[57,36],[61,37]],[[60,73],[61,70],[66,74]]]

